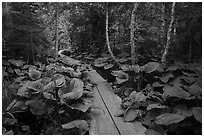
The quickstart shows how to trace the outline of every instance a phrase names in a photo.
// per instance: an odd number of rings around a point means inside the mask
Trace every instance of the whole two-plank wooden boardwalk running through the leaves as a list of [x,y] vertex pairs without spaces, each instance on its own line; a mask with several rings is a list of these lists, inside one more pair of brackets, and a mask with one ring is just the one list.
[[140,122],[124,122],[116,114],[122,112],[121,99],[114,94],[110,85],[95,70],[89,71],[92,82],[96,83],[94,89],[94,106],[101,111],[92,111],[90,134],[94,135],[144,135],[146,128]]

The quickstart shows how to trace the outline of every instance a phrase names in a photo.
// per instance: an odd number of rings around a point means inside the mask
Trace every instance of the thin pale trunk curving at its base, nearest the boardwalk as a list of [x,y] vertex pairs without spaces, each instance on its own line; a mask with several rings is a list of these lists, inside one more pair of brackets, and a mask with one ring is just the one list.
[[110,47],[110,42],[109,42],[109,36],[108,36],[108,6],[106,6],[106,43],[108,47],[108,52],[111,55],[111,58],[115,61],[115,63],[120,67],[121,64],[116,60],[116,58],[113,55],[113,52]]

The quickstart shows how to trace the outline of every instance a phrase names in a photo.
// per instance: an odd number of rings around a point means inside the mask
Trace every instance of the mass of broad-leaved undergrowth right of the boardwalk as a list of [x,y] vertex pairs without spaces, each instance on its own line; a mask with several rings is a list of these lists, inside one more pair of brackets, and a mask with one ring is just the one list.
[[[140,121],[147,135],[202,134],[201,65],[148,62],[139,66],[121,59],[126,64],[118,70],[109,60],[98,58],[93,65],[105,71],[101,75],[109,82],[114,81],[112,87],[124,108],[117,116],[124,122]],[[105,73],[111,73],[114,80]]]

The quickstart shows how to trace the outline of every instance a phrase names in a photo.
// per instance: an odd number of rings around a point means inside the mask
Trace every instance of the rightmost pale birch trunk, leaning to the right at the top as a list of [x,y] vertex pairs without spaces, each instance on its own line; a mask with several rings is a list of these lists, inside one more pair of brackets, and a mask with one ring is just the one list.
[[176,5],[176,2],[173,2],[172,3],[172,8],[171,8],[171,22],[169,24],[169,29],[168,29],[168,32],[167,32],[166,46],[165,46],[164,53],[163,53],[162,59],[161,59],[162,64],[166,64],[166,56],[168,54],[169,45],[170,45],[170,42],[171,42],[170,41],[171,40],[171,30],[172,30],[172,25],[173,25],[173,22],[174,22],[175,5]]

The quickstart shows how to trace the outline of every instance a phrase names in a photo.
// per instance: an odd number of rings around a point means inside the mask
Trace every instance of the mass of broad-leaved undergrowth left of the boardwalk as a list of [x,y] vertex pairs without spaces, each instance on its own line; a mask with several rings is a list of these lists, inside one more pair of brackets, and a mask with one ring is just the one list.
[[3,60],[3,134],[88,134],[91,68],[64,55],[24,64]]

